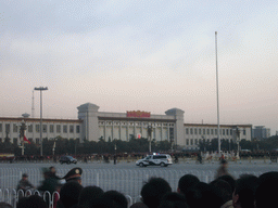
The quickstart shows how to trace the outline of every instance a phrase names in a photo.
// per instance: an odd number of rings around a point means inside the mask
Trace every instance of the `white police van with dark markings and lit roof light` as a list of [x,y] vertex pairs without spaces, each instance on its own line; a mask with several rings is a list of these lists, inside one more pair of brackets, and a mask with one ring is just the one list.
[[161,155],[148,155],[143,159],[139,159],[136,161],[136,166],[146,167],[146,166],[161,166],[161,167],[167,167],[168,165],[172,165],[172,157],[167,154],[161,154]]

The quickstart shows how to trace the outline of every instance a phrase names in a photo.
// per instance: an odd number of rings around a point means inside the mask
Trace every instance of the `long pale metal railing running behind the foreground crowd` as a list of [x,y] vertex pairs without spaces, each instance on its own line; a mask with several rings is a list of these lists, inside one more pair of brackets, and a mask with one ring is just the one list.
[[[65,176],[70,169],[60,169],[59,176]],[[0,199],[5,197],[11,199],[12,195],[16,195],[14,188],[16,187],[22,173],[27,173],[28,180],[35,186],[39,186],[43,180],[40,168],[1,168],[0,169]],[[185,174],[194,174],[202,182],[211,182],[214,180],[215,171],[211,170],[172,170],[172,169],[84,169],[83,170],[83,185],[97,185],[103,191],[115,190],[127,196],[129,204],[139,200],[141,187],[144,182],[151,177],[161,177],[165,179],[173,191],[177,190],[179,179]],[[231,174],[238,178],[242,173],[251,173],[260,176],[262,172],[242,172],[233,171]]]

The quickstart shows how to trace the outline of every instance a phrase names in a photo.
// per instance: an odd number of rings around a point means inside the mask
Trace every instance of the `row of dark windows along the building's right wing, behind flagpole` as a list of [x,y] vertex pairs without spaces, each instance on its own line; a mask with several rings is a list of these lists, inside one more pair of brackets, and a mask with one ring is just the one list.
[[[232,132],[233,132],[233,129],[220,129],[219,130],[220,132],[220,134],[222,135],[232,135]],[[186,128],[186,134],[203,134],[203,135],[205,135],[205,134],[207,134],[207,135],[217,135],[217,129],[193,129],[193,128]],[[245,131],[245,129],[243,129],[243,131],[242,131],[242,133],[243,133],[243,135],[245,135],[247,134],[247,131]]]

